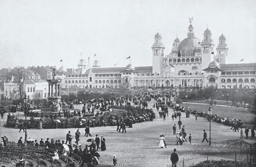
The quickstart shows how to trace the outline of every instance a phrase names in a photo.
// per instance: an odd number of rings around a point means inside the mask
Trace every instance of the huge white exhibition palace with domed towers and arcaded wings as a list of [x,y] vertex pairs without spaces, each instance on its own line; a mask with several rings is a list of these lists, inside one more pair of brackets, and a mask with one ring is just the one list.
[[154,36],[152,66],[99,68],[95,61],[92,68],[78,64],[77,72],[62,77],[62,87],[102,88],[119,87],[208,87],[219,89],[245,87],[255,89],[256,63],[226,64],[228,47],[221,34],[216,54],[211,31],[204,31],[202,40],[196,38],[193,25],[189,24],[187,38],[173,41],[172,51],[164,54],[161,34]]

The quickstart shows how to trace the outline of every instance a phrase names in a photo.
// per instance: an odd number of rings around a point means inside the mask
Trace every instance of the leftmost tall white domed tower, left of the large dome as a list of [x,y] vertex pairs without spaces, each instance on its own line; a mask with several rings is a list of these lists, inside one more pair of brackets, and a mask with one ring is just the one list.
[[152,72],[158,75],[163,75],[163,56],[164,56],[164,45],[162,43],[161,34],[157,33],[154,37],[154,43],[152,45],[153,52],[153,69]]

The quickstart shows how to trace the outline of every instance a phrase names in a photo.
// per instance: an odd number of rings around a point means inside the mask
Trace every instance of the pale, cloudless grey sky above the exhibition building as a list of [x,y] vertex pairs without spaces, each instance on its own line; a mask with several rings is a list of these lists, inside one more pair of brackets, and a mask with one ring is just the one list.
[[215,48],[225,35],[226,63],[256,62],[255,0],[0,0],[0,68],[76,68],[95,54],[102,67],[126,66],[129,55],[134,66],[152,66],[154,34],[169,54],[189,17],[200,40],[209,27]]

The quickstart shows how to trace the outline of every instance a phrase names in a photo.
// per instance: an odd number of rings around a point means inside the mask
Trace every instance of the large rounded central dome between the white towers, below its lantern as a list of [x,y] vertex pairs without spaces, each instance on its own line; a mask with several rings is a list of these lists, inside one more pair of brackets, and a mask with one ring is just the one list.
[[181,56],[194,55],[200,48],[200,40],[196,37],[189,36],[180,42],[178,52]]

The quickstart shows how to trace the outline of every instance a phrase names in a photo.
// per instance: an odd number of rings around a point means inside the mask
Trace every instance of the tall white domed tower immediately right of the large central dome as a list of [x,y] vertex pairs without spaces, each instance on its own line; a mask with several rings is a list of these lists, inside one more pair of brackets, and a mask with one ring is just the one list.
[[213,41],[212,41],[212,33],[207,29],[204,31],[204,39],[201,42],[202,47],[202,69],[208,67],[209,63],[213,61]]

